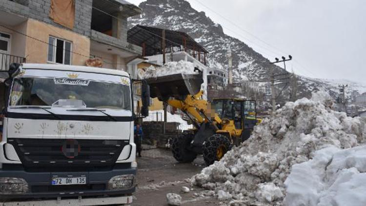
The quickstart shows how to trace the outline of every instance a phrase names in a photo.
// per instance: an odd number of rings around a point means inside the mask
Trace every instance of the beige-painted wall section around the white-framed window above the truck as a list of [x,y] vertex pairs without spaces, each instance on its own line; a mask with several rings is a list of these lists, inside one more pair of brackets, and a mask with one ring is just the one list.
[[[49,36],[71,41],[73,65],[85,65],[85,61],[89,59],[90,40],[88,37],[32,19],[28,19],[27,35],[44,42],[48,42]],[[47,63],[47,53],[48,44],[27,38],[25,56],[28,63]]]

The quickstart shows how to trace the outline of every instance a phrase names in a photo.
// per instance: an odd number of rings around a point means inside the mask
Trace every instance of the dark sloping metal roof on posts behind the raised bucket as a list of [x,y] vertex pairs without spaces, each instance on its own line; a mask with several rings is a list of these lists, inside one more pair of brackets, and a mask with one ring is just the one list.
[[165,30],[165,47],[180,47],[194,50],[201,53],[208,53],[197,41],[188,34],[180,31],[173,31],[157,27],[136,25],[127,32],[127,41],[129,43],[145,47],[145,56],[159,54],[162,50],[162,35]]

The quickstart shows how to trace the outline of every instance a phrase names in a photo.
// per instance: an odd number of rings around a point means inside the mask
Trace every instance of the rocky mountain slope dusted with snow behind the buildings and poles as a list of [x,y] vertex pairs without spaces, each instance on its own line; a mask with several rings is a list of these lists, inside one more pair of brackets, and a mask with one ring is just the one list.
[[[267,82],[271,68],[276,74],[285,72],[282,68],[270,64],[269,60],[243,41],[224,34],[220,24],[212,21],[204,12],[193,9],[185,0],[146,0],[139,6],[143,14],[129,19],[130,28],[140,24],[186,32],[209,51],[209,67],[227,69],[226,55],[230,45],[235,81],[239,82],[246,77],[250,81]],[[325,89],[332,96],[337,96],[337,89],[329,82],[302,76],[297,76],[297,79],[298,98],[309,97],[311,91],[319,89]],[[282,89],[282,86],[278,89]],[[290,90],[291,88],[285,90],[285,96],[289,95],[287,91]]]

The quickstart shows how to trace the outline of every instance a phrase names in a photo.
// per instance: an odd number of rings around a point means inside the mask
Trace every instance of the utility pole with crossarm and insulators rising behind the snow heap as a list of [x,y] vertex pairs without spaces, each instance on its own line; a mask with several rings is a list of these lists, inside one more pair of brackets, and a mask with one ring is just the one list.
[[[275,91],[275,85],[280,85],[280,84],[284,84],[284,83],[275,83],[276,81],[281,81],[281,80],[288,80],[288,72],[286,71],[286,62],[287,61],[291,61],[292,60],[292,56],[288,55],[288,59],[286,59],[285,57],[282,57],[282,60],[280,61],[278,58],[275,58],[276,62],[271,62],[271,64],[275,64],[275,63],[279,63],[279,62],[284,62],[284,69],[285,69],[285,73],[283,74],[274,74],[274,67],[271,67],[271,71],[270,71],[270,83],[271,83],[271,94],[272,94],[272,115],[276,112],[276,99],[281,95],[282,91],[287,87],[287,84],[285,82],[285,87],[280,91],[280,93],[278,94],[277,98],[276,98],[276,91]],[[285,77],[281,77],[284,76]],[[276,79],[277,78],[277,79]]]

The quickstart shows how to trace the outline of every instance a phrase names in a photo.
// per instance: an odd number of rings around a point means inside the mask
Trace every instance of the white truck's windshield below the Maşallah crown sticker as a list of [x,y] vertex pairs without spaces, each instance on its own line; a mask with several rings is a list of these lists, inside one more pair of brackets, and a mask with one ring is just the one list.
[[86,80],[58,81],[56,78],[16,78],[10,105],[51,106],[58,100],[82,100],[87,107],[131,111],[128,85]]

